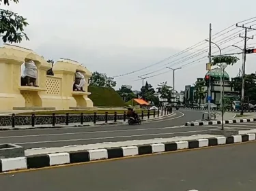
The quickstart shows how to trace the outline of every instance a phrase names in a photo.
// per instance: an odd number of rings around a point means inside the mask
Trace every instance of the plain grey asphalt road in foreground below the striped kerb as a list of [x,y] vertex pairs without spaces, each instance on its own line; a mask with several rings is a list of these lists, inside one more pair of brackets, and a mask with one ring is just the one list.
[[0,175],[16,191],[255,191],[256,143]]

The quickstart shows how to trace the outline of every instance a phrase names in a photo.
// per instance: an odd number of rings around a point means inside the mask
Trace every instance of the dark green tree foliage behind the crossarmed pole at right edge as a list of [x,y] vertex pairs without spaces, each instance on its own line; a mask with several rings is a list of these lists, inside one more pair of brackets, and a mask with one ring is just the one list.
[[[244,97],[248,102],[256,103],[256,75],[255,73],[246,74],[244,77]],[[231,82],[233,89],[240,92],[242,90],[242,77],[235,77]]]

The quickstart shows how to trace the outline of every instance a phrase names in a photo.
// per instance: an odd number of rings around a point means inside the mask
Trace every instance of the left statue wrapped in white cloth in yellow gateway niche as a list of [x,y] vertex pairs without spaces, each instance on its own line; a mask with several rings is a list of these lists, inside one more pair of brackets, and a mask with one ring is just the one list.
[[38,79],[38,67],[33,60],[25,61],[24,75],[21,77],[21,86],[38,87],[35,82]]

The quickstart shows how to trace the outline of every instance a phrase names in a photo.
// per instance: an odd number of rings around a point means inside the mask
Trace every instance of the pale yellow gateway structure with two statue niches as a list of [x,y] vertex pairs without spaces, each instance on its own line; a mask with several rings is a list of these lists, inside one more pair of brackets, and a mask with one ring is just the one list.
[[[25,72],[21,77],[21,66]],[[61,58],[54,75],[42,56],[33,50],[5,44],[0,48],[0,110],[86,109],[94,107],[88,98],[91,72],[74,60]]]

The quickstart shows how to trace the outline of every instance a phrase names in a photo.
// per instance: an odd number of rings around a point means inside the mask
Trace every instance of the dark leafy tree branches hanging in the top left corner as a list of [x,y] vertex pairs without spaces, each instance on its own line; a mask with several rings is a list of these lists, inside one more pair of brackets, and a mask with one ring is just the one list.
[[[18,0],[0,0],[0,5],[3,2],[4,5],[10,5],[9,1],[18,3]],[[26,33],[24,33],[24,27],[27,27],[27,19],[9,10],[0,9],[0,35],[3,42],[20,43],[23,37],[29,40]]]

